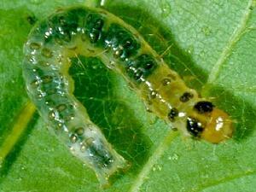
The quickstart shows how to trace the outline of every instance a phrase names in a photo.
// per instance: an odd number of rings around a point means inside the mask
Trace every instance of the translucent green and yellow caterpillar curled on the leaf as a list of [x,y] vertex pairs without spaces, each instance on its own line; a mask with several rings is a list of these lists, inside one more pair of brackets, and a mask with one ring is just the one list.
[[132,26],[104,9],[76,6],[49,15],[32,28],[24,55],[26,89],[38,112],[102,184],[127,162],[73,96],[68,69],[76,55],[97,57],[111,66],[149,110],[185,137],[220,143],[232,136],[227,113],[187,87]]

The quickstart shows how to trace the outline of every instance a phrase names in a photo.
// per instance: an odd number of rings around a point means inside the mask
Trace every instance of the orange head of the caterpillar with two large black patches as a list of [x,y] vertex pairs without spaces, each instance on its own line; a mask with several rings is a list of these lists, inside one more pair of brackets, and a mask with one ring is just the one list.
[[233,133],[232,121],[227,113],[215,108],[212,102],[197,102],[187,119],[187,131],[210,143],[220,143]]

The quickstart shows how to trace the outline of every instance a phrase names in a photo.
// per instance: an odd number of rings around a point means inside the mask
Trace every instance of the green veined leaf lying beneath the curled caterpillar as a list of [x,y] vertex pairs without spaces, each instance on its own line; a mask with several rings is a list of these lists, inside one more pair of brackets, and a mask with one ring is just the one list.
[[[256,11],[253,0],[113,0],[103,7],[137,28],[189,86],[230,113],[235,136],[212,145],[183,140],[147,113],[119,74],[96,59],[73,59],[75,95],[131,169],[106,191],[254,191],[256,187]],[[0,6],[0,150],[28,101],[22,45],[33,21],[96,1],[4,0]],[[25,110],[26,112],[26,110]],[[0,172],[0,191],[103,191],[38,115],[32,116]],[[15,143],[15,141],[14,141]]]

